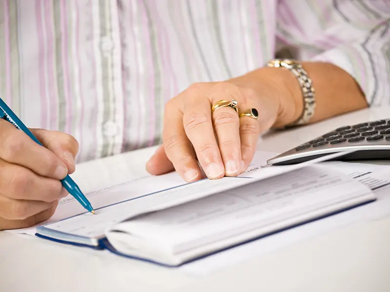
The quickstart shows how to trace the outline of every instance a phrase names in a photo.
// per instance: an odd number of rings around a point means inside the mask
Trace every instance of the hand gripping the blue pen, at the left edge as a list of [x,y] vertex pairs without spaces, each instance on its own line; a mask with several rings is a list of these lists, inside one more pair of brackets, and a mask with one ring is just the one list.
[[67,195],[59,180],[75,171],[78,142],[72,136],[31,129],[44,145],[0,119],[0,230],[49,219]]

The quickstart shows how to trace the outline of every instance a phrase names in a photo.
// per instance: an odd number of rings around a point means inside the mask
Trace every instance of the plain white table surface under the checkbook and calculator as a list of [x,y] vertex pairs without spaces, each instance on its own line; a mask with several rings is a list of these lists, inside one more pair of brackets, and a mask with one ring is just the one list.
[[[282,152],[342,125],[388,117],[390,108],[361,110],[266,134],[258,148]],[[124,154],[121,165],[127,168],[111,165],[110,173],[117,173],[119,182],[126,179],[126,172],[144,172],[152,151]],[[80,164],[78,170],[84,166]],[[99,187],[98,179],[93,183]],[[0,291],[389,292],[390,216],[348,225],[197,276],[108,252],[0,232]]]

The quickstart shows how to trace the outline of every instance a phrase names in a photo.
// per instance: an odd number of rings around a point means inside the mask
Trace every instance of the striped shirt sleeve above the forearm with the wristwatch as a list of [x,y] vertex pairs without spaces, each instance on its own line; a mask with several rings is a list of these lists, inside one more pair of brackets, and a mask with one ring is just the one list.
[[[297,30],[290,23],[288,27],[283,25],[283,32],[290,32],[292,41],[296,37],[300,44],[306,42],[305,45],[319,48],[319,51],[306,60],[332,63],[348,72],[359,84],[370,106],[390,105],[389,2],[329,2],[332,3],[325,11],[322,10],[322,13],[327,13],[326,18],[318,10],[315,15],[313,9],[309,18],[312,22],[306,23],[306,29],[302,29],[304,26],[301,25]],[[286,1],[285,5],[287,3]],[[295,23],[299,25],[298,22]],[[316,25],[322,25],[323,30],[314,36],[310,34],[310,30]],[[325,47],[325,50],[321,47]]]

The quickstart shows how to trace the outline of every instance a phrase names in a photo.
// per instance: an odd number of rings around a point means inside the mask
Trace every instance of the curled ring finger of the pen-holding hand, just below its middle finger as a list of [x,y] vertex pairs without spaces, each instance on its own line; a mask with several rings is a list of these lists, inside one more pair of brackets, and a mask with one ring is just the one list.
[[8,220],[23,220],[49,209],[53,202],[15,200],[0,195],[0,217]]

